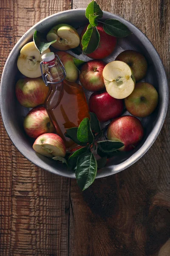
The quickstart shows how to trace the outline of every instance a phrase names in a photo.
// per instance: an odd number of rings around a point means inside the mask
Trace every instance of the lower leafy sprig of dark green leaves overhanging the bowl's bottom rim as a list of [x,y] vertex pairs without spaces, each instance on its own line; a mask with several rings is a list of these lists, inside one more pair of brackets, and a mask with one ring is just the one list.
[[[62,161],[68,166],[68,170],[75,170],[77,183],[83,190],[87,189],[93,182],[97,174],[97,168],[103,168],[109,157],[124,144],[119,141],[100,140],[107,127],[100,129],[99,121],[94,113],[90,113],[91,118],[84,118],[79,127],[66,129],[65,137],[70,138],[78,145],[82,146],[68,159],[54,157],[54,160]],[[101,157],[98,161],[94,156],[97,147],[97,154]]]

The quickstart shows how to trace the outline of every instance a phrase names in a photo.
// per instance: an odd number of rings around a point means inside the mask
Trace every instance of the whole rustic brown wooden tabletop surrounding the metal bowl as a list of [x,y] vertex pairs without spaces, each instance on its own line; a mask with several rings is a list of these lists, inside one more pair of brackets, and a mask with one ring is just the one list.
[[[0,0],[0,73],[39,20],[89,0]],[[159,52],[170,79],[169,0],[99,0],[130,20]],[[0,119],[0,256],[169,256],[170,110],[150,150],[130,168],[80,192],[75,180],[34,166]]]

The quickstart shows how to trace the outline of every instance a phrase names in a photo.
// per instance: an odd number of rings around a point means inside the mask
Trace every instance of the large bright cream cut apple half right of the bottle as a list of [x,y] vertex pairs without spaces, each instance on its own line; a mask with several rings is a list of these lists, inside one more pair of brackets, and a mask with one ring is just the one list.
[[103,69],[103,78],[107,92],[116,99],[124,99],[134,90],[135,78],[125,62],[108,63]]

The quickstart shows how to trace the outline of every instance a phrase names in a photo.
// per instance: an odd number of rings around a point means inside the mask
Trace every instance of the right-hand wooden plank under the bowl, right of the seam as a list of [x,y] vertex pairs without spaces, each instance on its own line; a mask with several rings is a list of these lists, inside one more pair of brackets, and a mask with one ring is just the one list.
[[[73,0],[73,8],[86,8],[89,2]],[[170,2],[97,3],[102,10],[124,17],[147,35],[170,81]],[[169,110],[158,139],[133,166],[95,180],[83,193],[71,180],[70,256],[170,255]]]

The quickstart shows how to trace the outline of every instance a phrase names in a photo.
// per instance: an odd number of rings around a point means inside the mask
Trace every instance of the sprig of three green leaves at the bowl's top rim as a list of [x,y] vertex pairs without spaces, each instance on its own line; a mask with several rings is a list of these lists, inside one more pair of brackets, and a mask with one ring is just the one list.
[[119,20],[108,19],[104,22],[99,21],[99,19],[103,17],[103,12],[96,1],[89,3],[86,8],[85,16],[88,18],[90,23],[82,37],[82,50],[85,54],[94,52],[99,45],[100,35],[97,29],[98,22],[103,23],[103,29],[108,35],[122,38],[131,34],[127,26]]

